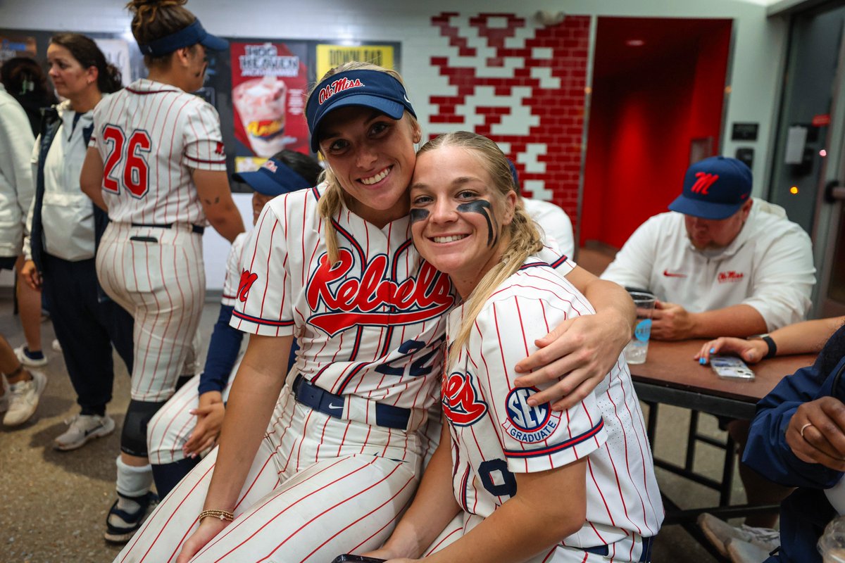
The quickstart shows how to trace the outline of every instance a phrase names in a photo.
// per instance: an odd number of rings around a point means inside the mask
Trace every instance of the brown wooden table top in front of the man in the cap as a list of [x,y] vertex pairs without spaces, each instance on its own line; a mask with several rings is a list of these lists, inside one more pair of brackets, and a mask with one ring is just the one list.
[[710,365],[700,365],[693,359],[704,343],[706,340],[651,340],[646,363],[630,365],[631,377],[635,382],[756,403],[783,376],[815,361],[815,354],[780,356],[750,365],[755,373],[753,382],[726,380],[718,377]]

